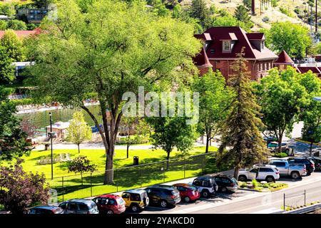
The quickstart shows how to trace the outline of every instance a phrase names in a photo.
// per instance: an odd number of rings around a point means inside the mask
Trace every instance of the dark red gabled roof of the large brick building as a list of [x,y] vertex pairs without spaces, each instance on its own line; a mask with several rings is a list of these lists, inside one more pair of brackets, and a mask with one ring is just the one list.
[[[208,58],[236,58],[236,54],[240,53],[242,48],[245,47],[245,58],[253,58],[253,59],[275,59],[277,56],[275,53],[270,51],[268,48],[264,48],[262,51],[258,50],[253,44],[250,43],[248,39],[248,34],[238,26],[229,26],[229,27],[213,27],[208,28],[205,33],[210,33],[210,37],[213,41],[211,41],[206,48],[206,54]],[[235,41],[235,45],[230,53],[226,53],[222,51],[222,41],[227,37],[230,37],[231,34],[233,39],[237,39]],[[234,37],[235,36],[235,37]],[[250,35],[251,36],[251,35]],[[258,35],[255,35],[258,36]],[[261,36],[261,35],[260,35]],[[197,37],[197,36],[195,36]],[[214,51],[210,51],[214,49]]]

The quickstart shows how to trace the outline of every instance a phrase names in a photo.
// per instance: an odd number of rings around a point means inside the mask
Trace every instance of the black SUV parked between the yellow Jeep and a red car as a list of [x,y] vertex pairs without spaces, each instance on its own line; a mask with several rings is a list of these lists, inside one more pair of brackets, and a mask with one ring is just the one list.
[[161,207],[168,207],[180,202],[180,192],[170,185],[153,185],[146,189],[150,204],[158,204]]

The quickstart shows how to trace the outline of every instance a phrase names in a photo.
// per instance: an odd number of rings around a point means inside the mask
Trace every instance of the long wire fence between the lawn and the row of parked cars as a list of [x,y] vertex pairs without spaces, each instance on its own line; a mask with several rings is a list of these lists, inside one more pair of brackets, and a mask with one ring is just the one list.
[[56,194],[56,202],[62,202],[66,199],[92,197],[219,171],[215,166],[214,153],[210,152],[114,169],[114,185],[103,185],[104,172],[86,173],[82,178],[81,175],[56,177],[47,182]]

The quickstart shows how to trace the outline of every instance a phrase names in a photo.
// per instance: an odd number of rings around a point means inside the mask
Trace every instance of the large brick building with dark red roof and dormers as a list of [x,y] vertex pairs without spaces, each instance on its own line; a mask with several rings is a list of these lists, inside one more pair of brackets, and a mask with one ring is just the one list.
[[195,35],[203,41],[204,46],[194,58],[200,74],[208,68],[220,71],[226,80],[233,74],[236,54],[245,47],[244,58],[248,61],[248,71],[252,80],[267,75],[277,59],[275,53],[265,47],[264,33],[246,33],[238,26],[208,28],[204,33]]

